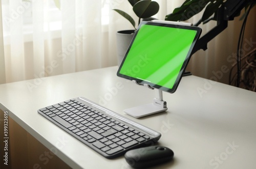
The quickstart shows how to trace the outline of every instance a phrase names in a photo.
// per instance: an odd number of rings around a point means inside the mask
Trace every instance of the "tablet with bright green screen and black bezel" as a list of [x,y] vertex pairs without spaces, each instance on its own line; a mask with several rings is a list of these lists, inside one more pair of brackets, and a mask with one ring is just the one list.
[[196,26],[142,21],[117,76],[174,93],[200,34]]

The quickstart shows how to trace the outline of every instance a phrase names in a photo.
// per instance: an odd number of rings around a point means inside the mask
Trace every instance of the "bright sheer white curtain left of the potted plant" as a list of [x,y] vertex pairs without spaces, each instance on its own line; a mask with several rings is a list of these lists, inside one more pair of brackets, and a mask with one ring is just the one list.
[[[0,83],[117,65],[128,1],[1,0]],[[3,24],[2,24],[3,23]]]

